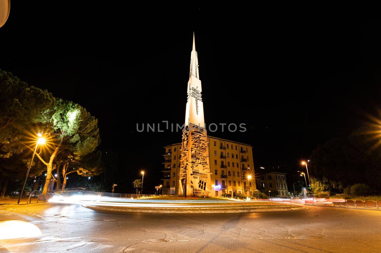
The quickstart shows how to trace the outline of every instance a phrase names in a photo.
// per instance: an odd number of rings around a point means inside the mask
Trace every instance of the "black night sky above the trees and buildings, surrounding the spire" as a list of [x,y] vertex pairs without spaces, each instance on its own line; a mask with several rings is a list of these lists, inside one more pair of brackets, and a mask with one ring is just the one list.
[[162,147],[181,133],[138,133],[136,123],[184,122],[193,31],[205,121],[247,126],[208,134],[251,144],[255,166],[296,168],[318,144],[362,126],[362,111],[379,116],[380,27],[369,13],[13,1],[0,68],[85,107],[99,120],[99,149],[147,168],[153,186]]

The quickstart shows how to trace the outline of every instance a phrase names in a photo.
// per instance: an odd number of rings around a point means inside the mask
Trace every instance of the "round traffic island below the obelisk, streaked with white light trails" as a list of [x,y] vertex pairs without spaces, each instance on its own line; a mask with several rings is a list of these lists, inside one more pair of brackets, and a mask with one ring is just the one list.
[[57,196],[51,200],[56,203],[80,204],[83,207],[114,212],[149,213],[241,213],[270,212],[307,209],[305,206],[264,200],[211,199],[128,199],[104,196]]

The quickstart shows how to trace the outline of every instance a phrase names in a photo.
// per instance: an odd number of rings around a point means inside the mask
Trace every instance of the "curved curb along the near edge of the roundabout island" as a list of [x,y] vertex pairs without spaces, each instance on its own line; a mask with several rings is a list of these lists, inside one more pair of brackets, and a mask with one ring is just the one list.
[[[280,209],[246,209],[246,210],[139,210],[139,209],[120,209],[120,208],[110,208],[110,207],[99,207],[90,206],[83,204],[81,205],[86,208],[96,209],[96,210],[106,210],[106,211],[116,211],[116,212],[136,212],[136,213],[256,213],[256,212],[274,212],[274,211],[292,211],[292,210],[304,210],[308,207],[297,207],[297,208],[280,208]],[[218,208],[216,208],[218,209]],[[221,209],[221,208],[220,208]]]

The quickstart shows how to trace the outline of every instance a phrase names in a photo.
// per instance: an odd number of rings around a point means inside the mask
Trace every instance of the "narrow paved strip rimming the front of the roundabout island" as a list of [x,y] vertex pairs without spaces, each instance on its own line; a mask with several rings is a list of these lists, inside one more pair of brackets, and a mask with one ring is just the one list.
[[197,209],[163,209],[157,207],[150,208],[112,208],[112,207],[101,207],[101,206],[91,206],[83,204],[83,207],[104,210],[104,211],[116,211],[116,212],[143,212],[143,213],[255,213],[255,212],[272,212],[272,211],[290,211],[290,210],[303,210],[308,209],[308,207],[296,207],[296,208],[271,208],[271,209],[238,209],[238,208],[197,208]]

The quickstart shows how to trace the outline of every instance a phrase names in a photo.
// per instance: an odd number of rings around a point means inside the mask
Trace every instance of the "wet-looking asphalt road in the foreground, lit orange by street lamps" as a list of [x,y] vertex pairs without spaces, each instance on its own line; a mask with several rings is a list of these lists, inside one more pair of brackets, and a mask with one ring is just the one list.
[[0,252],[381,252],[378,210],[156,214],[56,203],[0,210],[0,221],[33,222],[42,232],[2,241],[9,251]]

